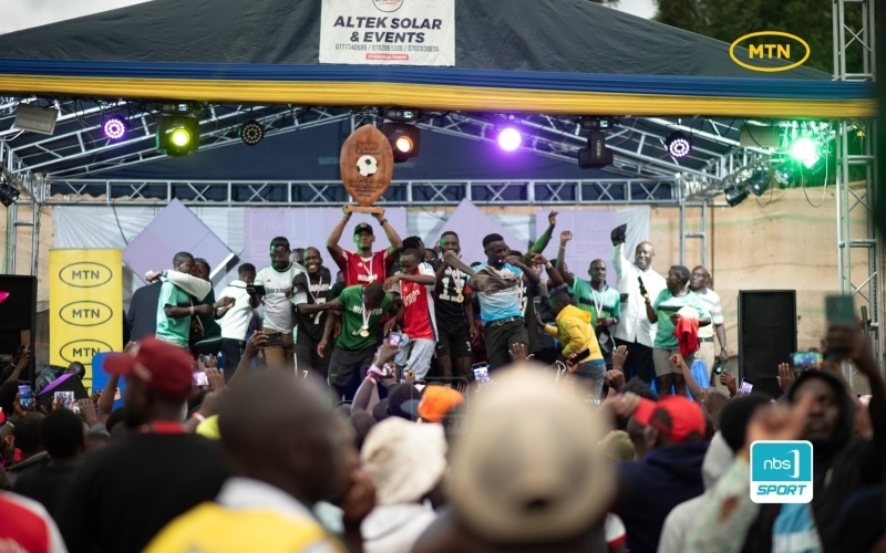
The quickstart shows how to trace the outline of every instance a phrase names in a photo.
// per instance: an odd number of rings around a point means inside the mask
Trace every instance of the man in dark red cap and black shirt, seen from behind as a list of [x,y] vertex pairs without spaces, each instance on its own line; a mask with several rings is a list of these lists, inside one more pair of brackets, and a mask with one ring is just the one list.
[[218,493],[227,477],[216,445],[186,434],[193,362],[147,337],[104,368],[126,379],[130,436],[89,457],[59,512],[70,551],[140,552],[166,523]]

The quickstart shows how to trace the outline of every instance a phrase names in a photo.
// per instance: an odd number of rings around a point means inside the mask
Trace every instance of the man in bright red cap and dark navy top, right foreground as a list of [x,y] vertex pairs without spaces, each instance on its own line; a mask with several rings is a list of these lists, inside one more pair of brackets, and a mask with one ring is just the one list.
[[708,450],[707,422],[698,404],[683,396],[639,398],[633,419],[645,428],[648,452],[619,463],[612,512],[625,522],[628,551],[656,553],[671,509],[704,492],[701,465]]

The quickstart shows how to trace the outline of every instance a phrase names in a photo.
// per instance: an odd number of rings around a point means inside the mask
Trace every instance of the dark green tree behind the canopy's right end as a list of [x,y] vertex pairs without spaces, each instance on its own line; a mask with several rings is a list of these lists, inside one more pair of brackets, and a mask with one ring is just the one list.
[[[832,0],[656,0],[655,21],[731,43],[758,31],[783,31],[805,40],[805,65],[834,72]],[[848,25],[861,29],[861,10],[847,10]],[[849,46],[847,70],[861,72],[861,49]]]

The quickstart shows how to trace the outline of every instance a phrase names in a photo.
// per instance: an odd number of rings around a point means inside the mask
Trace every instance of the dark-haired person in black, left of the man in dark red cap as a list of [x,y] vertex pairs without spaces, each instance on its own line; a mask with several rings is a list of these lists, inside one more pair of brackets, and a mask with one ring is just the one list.
[[55,409],[43,419],[40,434],[49,453],[49,463],[24,472],[12,491],[39,501],[56,518],[61,499],[83,460],[83,422],[68,409]]

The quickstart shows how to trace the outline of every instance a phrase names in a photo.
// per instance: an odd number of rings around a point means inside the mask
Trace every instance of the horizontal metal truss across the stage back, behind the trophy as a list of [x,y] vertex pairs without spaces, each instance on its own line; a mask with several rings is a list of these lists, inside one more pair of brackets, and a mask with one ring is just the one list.
[[[336,180],[48,180],[43,205],[166,205],[183,199],[200,207],[329,207],[351,201]],[[649,178],[563,180],[394,180],[381,206],[662,205],[677,206],[673,180]]]

